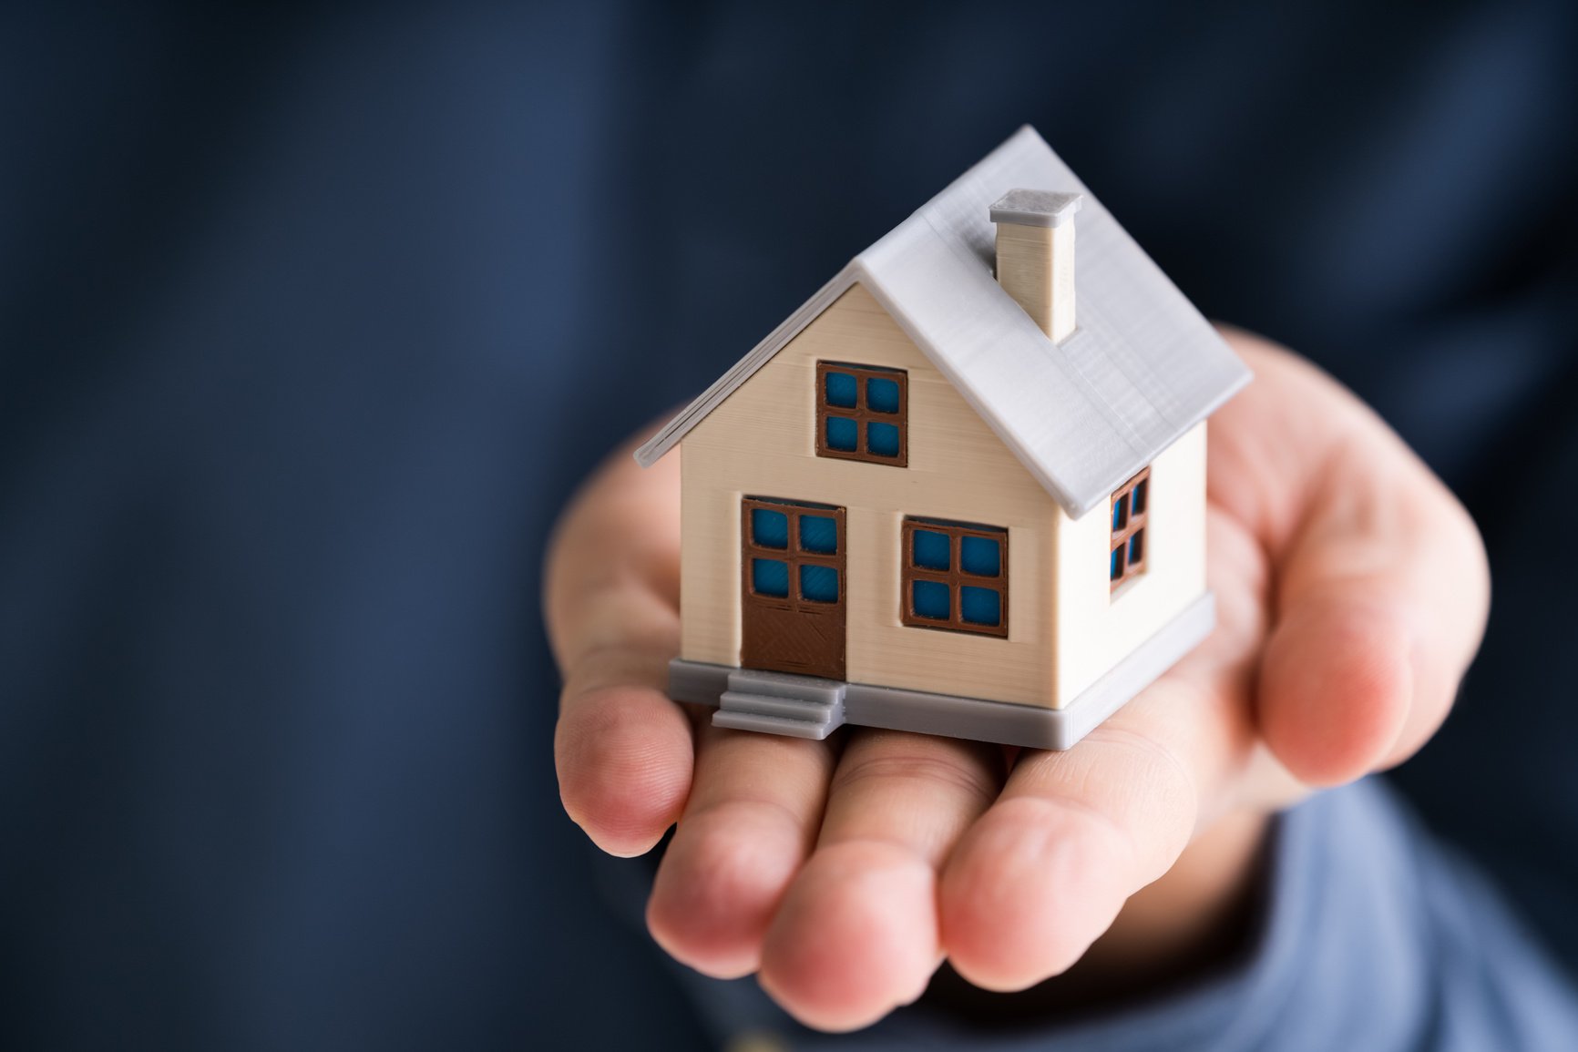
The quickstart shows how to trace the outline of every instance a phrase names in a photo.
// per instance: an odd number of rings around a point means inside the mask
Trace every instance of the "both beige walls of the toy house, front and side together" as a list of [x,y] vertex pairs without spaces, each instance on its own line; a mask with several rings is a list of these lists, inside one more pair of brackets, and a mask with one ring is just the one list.
[[[816,456],[817,360],[909,372],[907,468]],[[1204,427],[1179,446],[1154,468],[1152,568],[1109,606],[1105,509],[1070,522],[857,284],[682,443],[680,655],[740,662],[740,497],[811,500],[847,508],[851,681],[1059,707],[1187,601],[1174,607],[1174,599],[1204,587],[1196,550],[1204,513],[1180,506],[1190,492],[1185,476],[1202,478]],[[1195,491],[1196,503],[1202,492]],[[1007,527],[1007,640],[899,625],[906,514]],[[1182,530],[1174,539],[1165,536],[1171,524]],[[1060,574],[1059,546],[1067,549]],[[1191,552],[1201,565],[1187,565]],[[1068,604],[1062,631],[1054,601]]]

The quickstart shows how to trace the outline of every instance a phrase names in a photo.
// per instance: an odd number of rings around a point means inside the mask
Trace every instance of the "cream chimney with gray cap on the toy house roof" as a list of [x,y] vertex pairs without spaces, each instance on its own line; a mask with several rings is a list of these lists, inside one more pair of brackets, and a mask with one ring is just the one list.
[[1053,342],[1075,331],[1075,213],[1083,200],[1083,194],[1010,189],[991,207],[997,284]]

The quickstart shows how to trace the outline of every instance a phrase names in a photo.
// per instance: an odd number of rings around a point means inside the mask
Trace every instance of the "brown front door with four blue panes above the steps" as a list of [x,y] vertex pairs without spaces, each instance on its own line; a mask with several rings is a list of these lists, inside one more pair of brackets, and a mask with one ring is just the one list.
[[740,664],[843,680],[846,584],[843,508],[740,502]]

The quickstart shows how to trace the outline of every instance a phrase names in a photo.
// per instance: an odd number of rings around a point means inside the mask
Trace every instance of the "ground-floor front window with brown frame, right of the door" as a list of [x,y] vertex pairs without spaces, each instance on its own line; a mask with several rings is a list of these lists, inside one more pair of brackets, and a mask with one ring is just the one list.
[[899,621],[980,636],[1008,636],[1008,532],[906,517]]

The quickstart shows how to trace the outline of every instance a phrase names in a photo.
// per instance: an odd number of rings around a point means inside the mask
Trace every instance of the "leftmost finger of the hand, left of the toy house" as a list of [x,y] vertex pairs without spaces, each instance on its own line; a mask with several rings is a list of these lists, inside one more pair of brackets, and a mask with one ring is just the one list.
[[664,694],[679,651],[679,457],[609,456],[548,547],[548,637],[565,677],[554,762],[565,811],[612,855],[641,855],[679,819],[694,741]]

